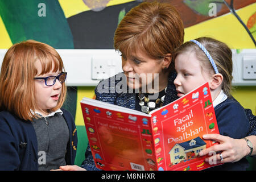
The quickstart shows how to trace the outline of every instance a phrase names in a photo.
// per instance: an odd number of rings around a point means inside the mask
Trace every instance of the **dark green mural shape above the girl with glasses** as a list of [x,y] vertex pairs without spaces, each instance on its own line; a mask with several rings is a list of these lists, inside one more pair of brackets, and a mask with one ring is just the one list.
[[0,15],[13,44],[34,39],[56,49],[74,48],[71,30],[57,0],[1,0]]

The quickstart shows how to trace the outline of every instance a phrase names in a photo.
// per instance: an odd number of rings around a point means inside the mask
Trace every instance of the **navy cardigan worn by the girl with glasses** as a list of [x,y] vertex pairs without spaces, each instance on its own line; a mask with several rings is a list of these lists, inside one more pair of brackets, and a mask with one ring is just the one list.
[[[63,117],[69,129],[65,161],[75,163],[77,148],[76,126],[72,115],[65,109]],[[38,141],[32,123],[8,111],[0,112],[0,171],[38,170]]]

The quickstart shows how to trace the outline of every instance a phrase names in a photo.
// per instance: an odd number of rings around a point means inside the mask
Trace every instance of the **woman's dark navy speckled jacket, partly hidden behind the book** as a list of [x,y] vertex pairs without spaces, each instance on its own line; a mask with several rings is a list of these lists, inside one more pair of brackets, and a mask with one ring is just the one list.
[[[171,72],[168,76],[168,85],[166,89],[166,96],[164,97],[163,105],[167,105],[173,101],[175,101],[177,97],[176,88],[174,85],[174,80],[177,76],[176,72]],[[122,92],[122,86],[127,84],[126,80],[122,81],[123,73],[118,73],[117,75],[110,77],[106,80],[102,80],[95,89],[96,100],[100,100],[102,102],[108,102],[110,104],[127,107],[130,109],[135,109],[135,93],[129,93],[128,88],[127,92]],[[234,98],[232,98],[235,100]],[[235,100],[236,101],[236,100]],[[247,136],[256,135],[256,116],[251,113],[250,109],[245,109],[245,113],[250,123],[250,130]],[[88,143],[88,148],[85,152],[85,160],[82,162],[81,167],[86,170],[98,170],[95,167],[93,162],[92,153],[90,151],[90,146]]]

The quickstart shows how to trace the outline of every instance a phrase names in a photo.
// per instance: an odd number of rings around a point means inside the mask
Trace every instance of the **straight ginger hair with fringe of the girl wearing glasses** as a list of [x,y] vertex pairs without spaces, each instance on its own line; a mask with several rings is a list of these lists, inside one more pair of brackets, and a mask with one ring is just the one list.
[[[35,61],[40,61],[43,75],[50,71],[63,71],[64,65],[59,53],[44,43],[35,40],[14,44],[3,59],[0,74],[0,110],[8,110],[19,118],[32,121],[38,117],[31,113],[36,109],[34,97],[34,77],[38,74]],[[54,67],[53,67],[54,65]],[[62,84],[57,106],[60,109],[65,101],[67,86]]]

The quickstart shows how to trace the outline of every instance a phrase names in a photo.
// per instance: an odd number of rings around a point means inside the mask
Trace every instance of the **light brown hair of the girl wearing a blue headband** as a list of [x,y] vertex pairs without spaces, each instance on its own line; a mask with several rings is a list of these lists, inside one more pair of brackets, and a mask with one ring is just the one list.
[[[212,56],[214,63],[217,66],[218,72],[223,76],[222,87],[223,92],[230,97],[230,90],[232,89],[232,51],[223,42],[220,42],[213,38],[201,37],[195,39],[200,42]],[[193,42],[186,42],[180,46],[174,55],[174,58],[180,53],[195,52],[197,59],[201,62],[203,69],[207,69],[210,75],[214,75],[214,69],[210,63],[208,57],[202,51],[202,49]]]

